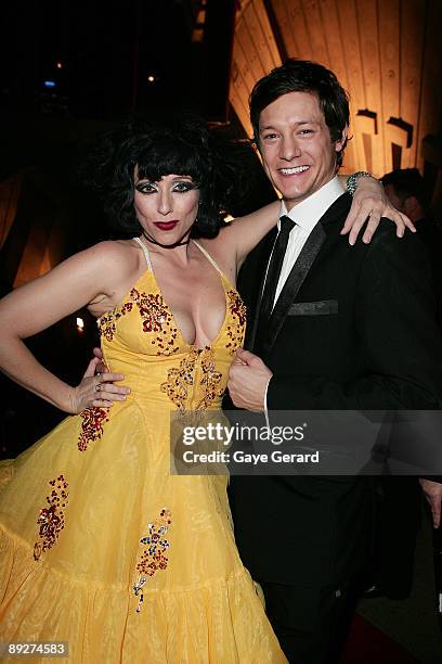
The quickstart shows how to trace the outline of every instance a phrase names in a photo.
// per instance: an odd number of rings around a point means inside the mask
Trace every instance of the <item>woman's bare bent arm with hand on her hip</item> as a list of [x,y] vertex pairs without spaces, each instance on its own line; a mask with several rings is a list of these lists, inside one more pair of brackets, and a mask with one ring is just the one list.
[[[81,383],[72,387],[40,365],[22,340],[46,330],[93,299],[108,295],[109,254],[115,253],[112,244],[101,243],[76,254],[0,301],[0,368],[16,383],[66,412],[80,412],[92,405],[112,405],[112,401],[95,398],[103,393],[95,391],[94,360]],[[123,376],[107,374],[103,378],[118,381]],[[115,391],[117,398],[127,388],[106,384],[106,396],[108,391]]]

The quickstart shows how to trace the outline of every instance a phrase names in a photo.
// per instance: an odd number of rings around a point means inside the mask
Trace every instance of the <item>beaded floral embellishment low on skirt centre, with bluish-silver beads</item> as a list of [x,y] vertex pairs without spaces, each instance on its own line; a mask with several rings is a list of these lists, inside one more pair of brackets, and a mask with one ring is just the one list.
[[164,508],[159,518],[153,523],[147,524],[147,534],[140,539],[145,549],[143,550],[139,563],[136,565],[136,579],[133,585],[133,592],[139,598],[136,613],[140,613],[144,593],[143,587],[148,576],[154,576],[158,570],[166,570],[168,565],[167,550],[170,547],[169,540],[165,535],[170,528],[171,513],[170,510]]

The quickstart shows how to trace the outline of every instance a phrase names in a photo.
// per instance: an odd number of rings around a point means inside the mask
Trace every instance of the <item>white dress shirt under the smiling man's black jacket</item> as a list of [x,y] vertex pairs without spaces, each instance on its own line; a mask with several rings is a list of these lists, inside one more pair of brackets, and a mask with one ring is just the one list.
[[[287,207],[284,201],[281,201],[281,210],[280,210],[280,219],[283,215],[287,215],[290,217],[292,221],[295,221],[296,226],[291,229],[290,234],[288,237],[288,244],[286,248],[286,253],[284,255],[283,266],[281,268],[280,279],[276,286],[275,299],[273,302],[273,306],[277,302],[280,297],[280,293],[284,288],[285,282],[291,269],[302,251],[303,245],[306,244],[310,233],[321,219],[321,217],[327,212],[327,209],[344,193],[344,189],[337,176],[335,176],[329,182],[321,187],[317,191],[315,191],[311,196],[306,199],[306,201],[301,201],[298,205],[294,205],[290,212],[287,212]],[[281,222],[277,222],[277,228],[281,230]],[[269,270],[270,259],[268,264]],[[269,383],[265,387],[264,394],[264,411],[265,411],[265,421],[266,425],[270,426],[269,423],[269,411],[266,405],[266,395],[269,390]]]

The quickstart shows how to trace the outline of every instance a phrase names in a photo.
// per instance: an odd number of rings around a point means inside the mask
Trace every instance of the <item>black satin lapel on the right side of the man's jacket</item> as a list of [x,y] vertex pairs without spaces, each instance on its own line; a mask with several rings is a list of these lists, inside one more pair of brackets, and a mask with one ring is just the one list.
[[299,289],[308,276],[325,240],[327,239],[327,225],[337,217],[346,215],[350,208],[350,205],[351,197],[349,194],[344,193],[339,196],[339,199],[335,201],[335,203],[325,212],[310,233],[273,308],[265,340],[265,353],[269,352],[275,343],[277,334],[280,333],[284,320],[286,319],[288,309],[294,303]]

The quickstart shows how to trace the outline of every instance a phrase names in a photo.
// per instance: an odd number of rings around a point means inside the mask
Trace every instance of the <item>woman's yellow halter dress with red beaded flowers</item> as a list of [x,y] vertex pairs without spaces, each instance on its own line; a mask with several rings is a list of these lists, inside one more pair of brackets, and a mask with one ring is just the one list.
[[190,346],[145,257],[99,320],[127,400],[0,464],[0,641],[68,641],[81,664],[286,662],[238,557],[226,476],[169,472],[170,413],[220,407],[244,305],[221,273],[221,330]]

